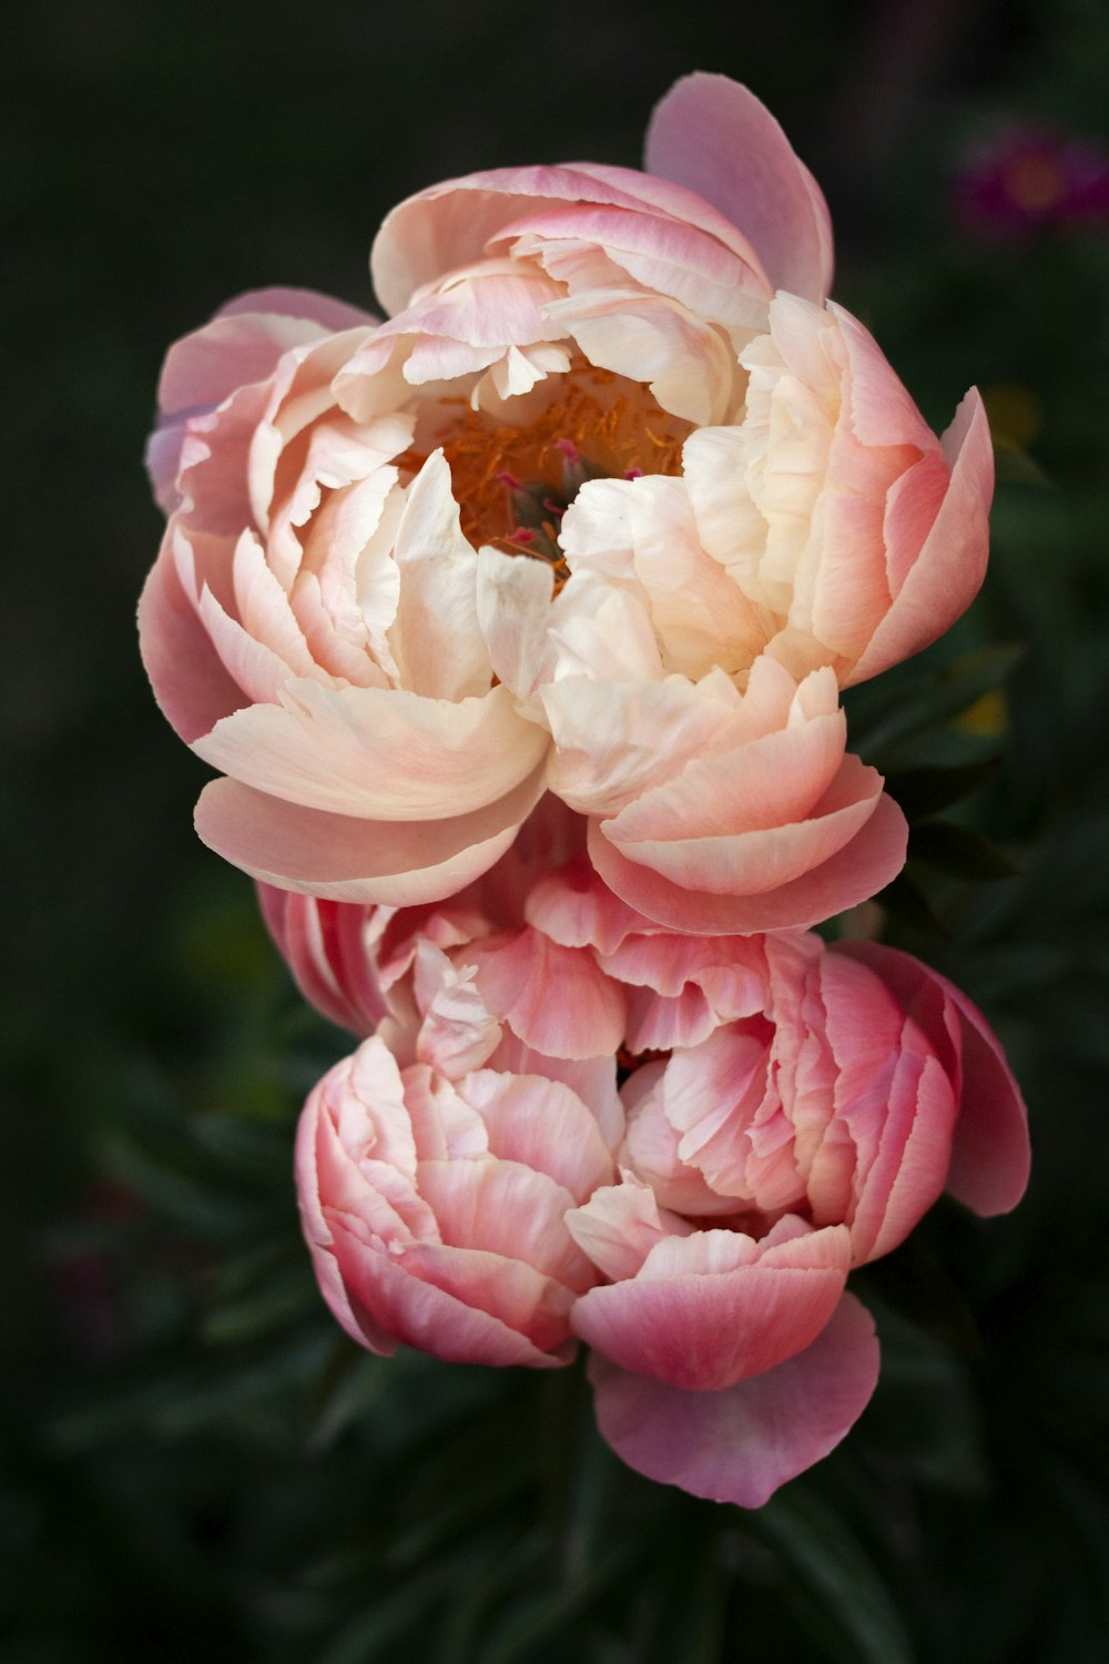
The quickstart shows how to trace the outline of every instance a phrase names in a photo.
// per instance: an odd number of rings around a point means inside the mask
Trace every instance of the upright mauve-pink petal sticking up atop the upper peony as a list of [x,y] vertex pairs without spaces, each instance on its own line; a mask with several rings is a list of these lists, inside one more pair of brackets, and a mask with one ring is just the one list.
[[821,301],[831,288],[831,221],[808,168],[747,87],[687,75],[655,106],[647,171],[718,208],[750,238],[775,290]]

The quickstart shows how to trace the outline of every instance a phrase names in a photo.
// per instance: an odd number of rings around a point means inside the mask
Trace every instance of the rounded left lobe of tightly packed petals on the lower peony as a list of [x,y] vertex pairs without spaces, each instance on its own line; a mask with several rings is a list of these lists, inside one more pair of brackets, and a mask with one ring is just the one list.
[[500,1028],[427,940],[417,1025],[362,1042],[309,1095],[296,1145],[323,1295],[377,1353],[397,1341],[466,1363],[554,1368],[599,1276],[569,1210],[612,1176],[582,1098],[484,1067]]

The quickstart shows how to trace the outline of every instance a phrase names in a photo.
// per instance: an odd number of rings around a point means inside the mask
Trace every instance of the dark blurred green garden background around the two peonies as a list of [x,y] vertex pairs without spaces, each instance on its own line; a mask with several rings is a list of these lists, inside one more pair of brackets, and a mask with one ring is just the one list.
[[[22,10],[0,68],[2,1664],[1102,1664],[1104,0]],[[941,1203],[860,1280],[881,1388],[758,1514],[622,1469],[579,1371],[372,1359],[326,1316],[289,1145],[349,1040],[193,837],[206,770],[133,629],[168,343],[264,285],[372,305],[392,203],[481,166],[635,166],[692,68],[778,115],[831,203],[836,295],[928,419],[971,381],[991,409],[983,596],[860,691],[851,732],[916,790],[890,937],[988,1010],[1036,1150],[1014,1216]]]

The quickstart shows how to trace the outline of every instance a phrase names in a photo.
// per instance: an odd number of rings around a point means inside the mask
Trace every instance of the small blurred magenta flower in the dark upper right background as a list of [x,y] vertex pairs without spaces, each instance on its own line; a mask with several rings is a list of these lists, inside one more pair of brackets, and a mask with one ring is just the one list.
[[1009,128],[961,168],[956,213],[966,231],[994,236],[1109,223],[1109,151],[1047,128]]

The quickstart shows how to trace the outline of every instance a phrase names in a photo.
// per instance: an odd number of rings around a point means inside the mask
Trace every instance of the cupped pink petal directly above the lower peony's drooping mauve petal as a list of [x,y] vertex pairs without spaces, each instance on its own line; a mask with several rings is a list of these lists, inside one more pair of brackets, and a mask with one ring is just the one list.
[[[743,1246],[750,1260],[740,1265]],[[722,1230],[663,1236],[635,1278],[577,1301],[574,1330],[637,1374],[720,1391],[816,1338],[843,1293],[850,1253],[843,1225],[770,1248]]]

